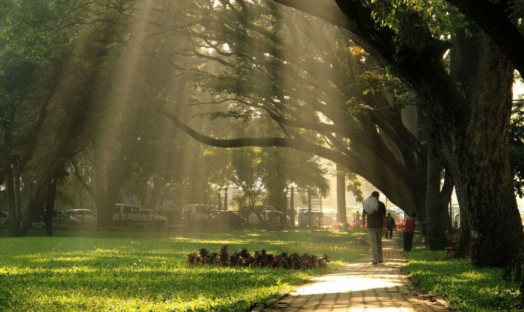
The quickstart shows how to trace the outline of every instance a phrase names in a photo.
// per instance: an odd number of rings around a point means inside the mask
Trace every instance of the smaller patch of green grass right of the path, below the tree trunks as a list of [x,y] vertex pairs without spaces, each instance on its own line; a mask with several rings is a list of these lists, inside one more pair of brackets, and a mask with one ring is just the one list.
[[408,258],[406,272],[420,285],[421,291],[444,298],[452,308],[521,311],[517,308],[518,290],[511,290],[518,286],[506,285],[500,269],[476,269],[466,259],[444,260],[443,250],[429,251],[417,235],[413,250],[404,254]]

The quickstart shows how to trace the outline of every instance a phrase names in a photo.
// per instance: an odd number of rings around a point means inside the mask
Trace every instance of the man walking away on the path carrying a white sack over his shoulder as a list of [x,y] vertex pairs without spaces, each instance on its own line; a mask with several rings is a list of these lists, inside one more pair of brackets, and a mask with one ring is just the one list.
[[378,196],[379,194],[376,191],[371,193],[371,196],[364,200],[364,210],[362,211],[362,224],[366,225],[373,254],[371,264],[384,262],[382,258],[382,236],[386,232],[386,205],[378,200]]

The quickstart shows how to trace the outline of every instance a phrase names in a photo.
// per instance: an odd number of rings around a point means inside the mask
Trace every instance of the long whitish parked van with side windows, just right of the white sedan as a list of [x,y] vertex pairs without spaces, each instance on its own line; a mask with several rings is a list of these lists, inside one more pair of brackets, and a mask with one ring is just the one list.
[[[161,217],[161,218],[158,218]],[[155,226],[158,221],[166,221],[167,218],[155,216],[155,211],[146,209],[144,206],[133,204],[115,204],[113,222],[119,225]],[[163,219],[165,218],[165,220]]]

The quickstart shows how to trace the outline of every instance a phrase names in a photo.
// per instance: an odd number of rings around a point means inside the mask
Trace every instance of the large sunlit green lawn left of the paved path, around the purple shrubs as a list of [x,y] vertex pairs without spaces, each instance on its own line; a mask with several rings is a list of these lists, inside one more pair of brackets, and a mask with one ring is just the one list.
[[326,270],[191,266],[186,255],[202,247],[218,252],[222,244],[251,253],[328,253],[327,270],[333,270],[366,252],[362,238],[331,232],[80,230],[55,231],[53,238],[0,238],[0,310],[248,310]]

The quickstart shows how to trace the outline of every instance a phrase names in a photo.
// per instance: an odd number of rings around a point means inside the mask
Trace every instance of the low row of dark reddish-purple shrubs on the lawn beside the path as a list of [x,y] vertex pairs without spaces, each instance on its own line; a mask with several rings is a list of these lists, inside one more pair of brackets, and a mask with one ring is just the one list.
[[251,255],[247,249],[235,251],[230,254],[227,245],[223,245],[219,253],[209,252],[201,248],[199,253],[191,252],[187,255],[187,263],[192,265],[211,264],[221,266],[259,266],[262,268],[283,268],[283,269],[324,269],[328,266],[329,256],[316,257],[314,254],[282,252],[278,255],[268,253],[265,249],[257,250]]

